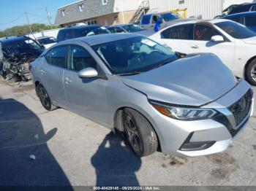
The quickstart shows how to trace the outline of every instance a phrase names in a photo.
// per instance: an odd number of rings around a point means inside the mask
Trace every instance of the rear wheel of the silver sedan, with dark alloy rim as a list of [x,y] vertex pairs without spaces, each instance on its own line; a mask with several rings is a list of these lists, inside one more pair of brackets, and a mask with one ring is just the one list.
[[50,101],[50,97],[47,93],[47,91],[45,90],[45,87],[43,87],[42,84],[39,83],[39,85],[37,85],[37,95],[39,97],[39,100],[42,104],[42,106],[48,110],[48,111],[53,111],[54,109],[57,109],[56,106],[53,106],[53,104]]

